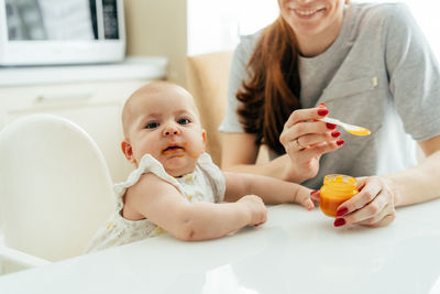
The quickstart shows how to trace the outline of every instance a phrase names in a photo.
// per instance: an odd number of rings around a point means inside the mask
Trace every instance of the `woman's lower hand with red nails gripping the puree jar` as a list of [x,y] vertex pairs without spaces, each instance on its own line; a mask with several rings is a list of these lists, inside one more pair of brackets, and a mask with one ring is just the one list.
[[358,178],[360,193],[338,207],[334,227],[349,224],[387,226],[396,218],[394,193],[378,176]]

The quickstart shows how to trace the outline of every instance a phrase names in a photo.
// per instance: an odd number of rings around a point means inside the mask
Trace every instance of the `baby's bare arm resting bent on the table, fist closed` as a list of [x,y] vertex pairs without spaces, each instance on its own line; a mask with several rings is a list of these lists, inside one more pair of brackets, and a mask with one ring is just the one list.
[[220,238],[266,220],[266,208],[257,196],[238,203],[190,203],[173,185],[150,173],[128,189],[124,206],[182,240]]

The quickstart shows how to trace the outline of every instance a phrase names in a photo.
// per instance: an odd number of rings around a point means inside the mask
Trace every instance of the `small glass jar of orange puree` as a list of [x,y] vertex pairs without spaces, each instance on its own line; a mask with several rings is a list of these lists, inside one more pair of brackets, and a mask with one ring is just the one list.
[[348,175],[326,175],[319,193],[321,211],[329,217],[337,217],[338,207],[359,193],[358,181]]

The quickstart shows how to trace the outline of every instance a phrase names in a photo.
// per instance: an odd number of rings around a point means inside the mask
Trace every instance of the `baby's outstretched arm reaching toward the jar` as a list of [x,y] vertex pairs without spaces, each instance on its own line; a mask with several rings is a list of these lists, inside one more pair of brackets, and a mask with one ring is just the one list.
[[298,203],[308,210],[314,209],[310,199],[311,189],[296,183],[278,178],[224,172],[227,190],[224,200],[237,202],[242,195],[258,195],[265,204]]

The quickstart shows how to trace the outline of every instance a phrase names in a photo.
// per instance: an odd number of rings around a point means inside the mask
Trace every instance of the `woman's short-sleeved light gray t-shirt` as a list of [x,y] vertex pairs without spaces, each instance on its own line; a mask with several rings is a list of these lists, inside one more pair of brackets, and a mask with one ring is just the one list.
[[[227,116],[221,132],[244,132],[235,94],[249,79],[246,64],[260,32],[242,37],[231,64]],[[304,108],[324,102],[329,117],[362,126],[369,137],[344,131],[345,144],[320,159],[319,188],[327,174],[388,174],[416,165],[416,141],[440,134],[440,68],[403,3],[353,3],[341,32],[322,54],[299,58]],[[272,159],[279,154],[272,152]]]

